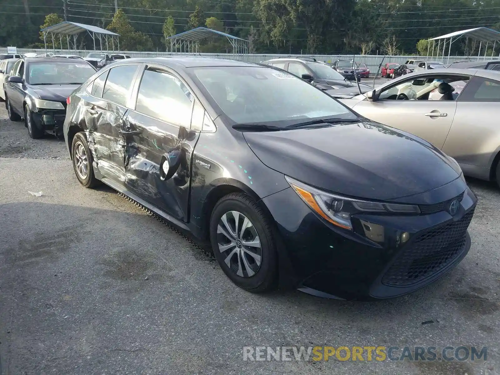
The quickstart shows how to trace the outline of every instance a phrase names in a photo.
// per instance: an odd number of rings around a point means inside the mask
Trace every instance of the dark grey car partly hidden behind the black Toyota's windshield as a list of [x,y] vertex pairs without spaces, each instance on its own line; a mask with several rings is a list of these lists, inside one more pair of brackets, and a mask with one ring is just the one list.
[[[342,74],[323,62],[290,57],[273,58],[271,60],[262,61],[262,63],[286,70],[322,90],[331,90],[332,88],[342,89],[345,87],[357,88],[355,82],[345,79]],[[371,88],[371,86],[364,83],[359,83],[359,85],[361,87]]]

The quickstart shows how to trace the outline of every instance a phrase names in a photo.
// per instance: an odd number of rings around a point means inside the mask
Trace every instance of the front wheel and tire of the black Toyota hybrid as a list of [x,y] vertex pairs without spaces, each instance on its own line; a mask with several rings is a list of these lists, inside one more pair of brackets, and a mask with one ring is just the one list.
[[244,193],[222,197],[213,208],[209,230],[215,258],[232,282],[255,293],[275,288],[273,229],[255,200]]

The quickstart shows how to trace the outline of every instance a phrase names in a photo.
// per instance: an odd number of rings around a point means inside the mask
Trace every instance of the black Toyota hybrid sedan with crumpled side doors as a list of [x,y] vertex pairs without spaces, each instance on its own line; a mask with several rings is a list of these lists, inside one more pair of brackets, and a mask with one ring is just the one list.
[[92,75],[68,103],[78,181],[209,239],[249,291],[392,297],[470,247],[476,197],[453,159],[285,71],[133,58]]

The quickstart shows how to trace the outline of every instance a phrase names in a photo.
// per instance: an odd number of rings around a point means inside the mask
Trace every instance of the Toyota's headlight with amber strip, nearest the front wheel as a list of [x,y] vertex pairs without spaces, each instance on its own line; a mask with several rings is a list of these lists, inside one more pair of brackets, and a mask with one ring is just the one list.
[[344,229],[352,230],[351,215],[355,213],[420,213],[417,205],[353,199],[319,190],[288,176],[285,178],[314,212]]

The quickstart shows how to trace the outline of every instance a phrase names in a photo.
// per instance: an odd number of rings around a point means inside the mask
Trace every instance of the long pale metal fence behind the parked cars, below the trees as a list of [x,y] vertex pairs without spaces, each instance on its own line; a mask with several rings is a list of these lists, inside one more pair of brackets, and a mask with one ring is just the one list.
[[[6,53],[7,48],[0,48],[0,53]],[[45,52],[52,53],[61,53],[61,54],[77,54],[80,56],[85,56],[90,52],[101,52],[101,51],[89,51],[89,50],[67,50],[67,49],[29,49],[29,48],[17,48],[17,53],[27,53],[27,52],[35,52],[38,54]],[[117,53],[116,51],[102,51],[103,53]],[[137,51],[122,51],[121,53],[126,53],[131,57],[155,57],[155,56],[171,56],[171,55],[188,55],[189,53],[173,53],[173,52],[137,52]],[[352,54],[232,54],[232,53],[198,53],[196,55],[206,56],[206,57],[215,57],[215,58],[230,58],[237,60],[244,60],[250,62],[260,62],[269,60],[271,58],[278,57],[312,57],[317,61],[322,61],[326,63],[333,63],[337,59],[349,59],[351,60]],[[382,55],[356,55],[355,60],[361,63],[365,63],[371,71],[376,71],[380,61],[382,60]],[[430,56],[385,56],[385,62],[396,62],[396,63],[404,63],[409,59],[423,59],[428,61],[441,61],[444,63],[451,63],[454,61],[476,61],[476,60],[491,60],[496,59],[496,56],[440,56],[440,57],[430,57]]]

